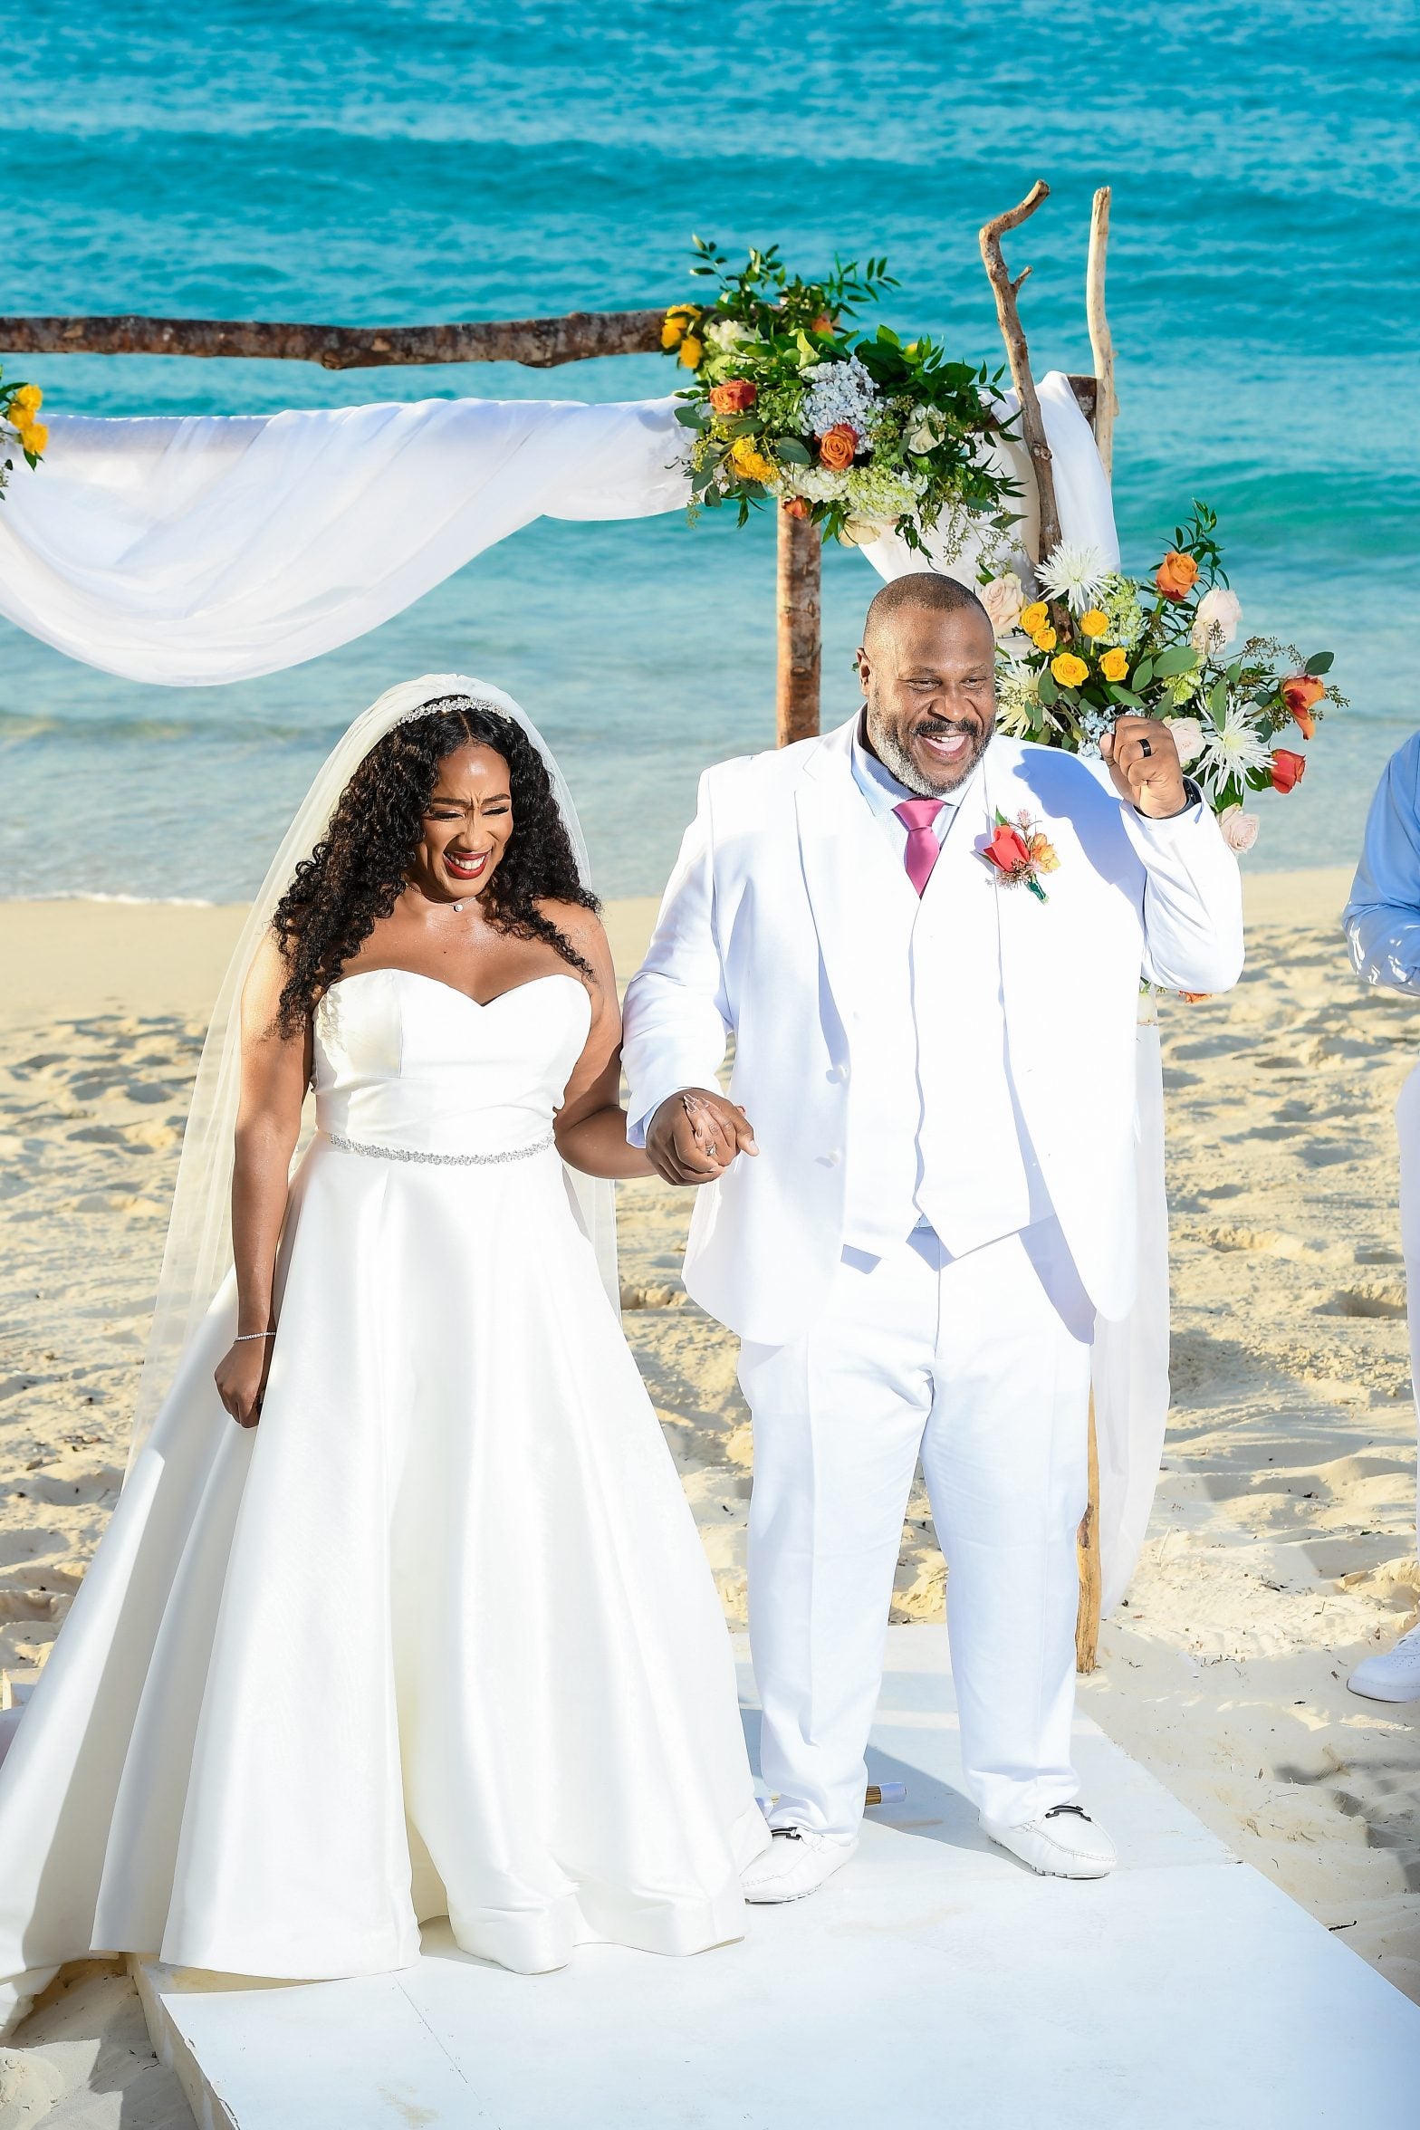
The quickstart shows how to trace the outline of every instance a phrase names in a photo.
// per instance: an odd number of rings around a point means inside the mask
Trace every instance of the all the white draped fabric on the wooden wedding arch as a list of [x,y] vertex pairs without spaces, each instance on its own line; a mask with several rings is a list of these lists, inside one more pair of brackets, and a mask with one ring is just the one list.
[[[1069,379],[1039,383],[1067,539],[1109,564],[1109,481]],[[1005,400],[1013,409],[1013,396]],[[83,420],[55,415],[38,471],[0,503],[0,613],[106,673],[215,686],[277,673],[377,628],[475,554],[539,515],[649,518],[679,509],[686,430],[675,400],[417,400],[277,415]],[[1033,539],[1020,443],[996,443]],[[975,550],[864,550],[884,577],[950,569]],[[1169,1406],[1169,1263],[1158,1039],[1139,1042],[1141,1299],[1101,1329],[1105,1602],[1135,1566]]]

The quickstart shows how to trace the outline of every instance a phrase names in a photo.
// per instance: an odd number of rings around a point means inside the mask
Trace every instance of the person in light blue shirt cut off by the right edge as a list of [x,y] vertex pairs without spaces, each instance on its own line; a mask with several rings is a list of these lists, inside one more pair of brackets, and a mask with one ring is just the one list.
[[[1386,763],[1341,918],[1352,967],[1367,984],[1420,997],[1420,733]],[[1394,1108],[1401,1135],[1401,1246],[1409,1293],[1409,1363],[1420,1404],[1420,1067]],[[1420,1527],[1418,1527],[1420,1542]],[[1375,1702],[1420,1702],[1420,1627],[1365,1657],[1345,1681]]]

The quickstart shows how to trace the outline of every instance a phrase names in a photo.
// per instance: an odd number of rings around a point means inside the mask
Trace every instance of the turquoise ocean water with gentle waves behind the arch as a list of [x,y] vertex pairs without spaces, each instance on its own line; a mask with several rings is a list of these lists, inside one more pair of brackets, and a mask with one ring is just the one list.
[[[1220,511],[1245,622],[1337,652],[1354,709],[1262,801],[1256,865],[1354,858],[1416,705],[1416,13],[1252,0],[64,0],[13,17],[4,311],[400,324],[690,292],[692,230],[803,271],[886,251],[890,322],[1001,345],[975,232],[1035,177],[1037,371],[1088,368],[1090,194],[1113,185],[1116,498],[1145,567]],[[628,398],[658,358],[330,377],[28,362],[55,409]],[[0,505],[2,507],[2,505]],[[824,722],[869,567],[826,562]],[[462,667],[556,743],[607,892],[651,892],[700,767],[773,739],[773,526],[536,524],[313,665],[162,690],[0,624],[0,895],[238,897],[330,739]]]

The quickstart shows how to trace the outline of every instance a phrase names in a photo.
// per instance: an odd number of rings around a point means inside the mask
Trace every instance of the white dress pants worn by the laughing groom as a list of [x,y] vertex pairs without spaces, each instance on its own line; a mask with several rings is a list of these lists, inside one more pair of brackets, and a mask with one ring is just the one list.
[[1050,1218],[960,1259],[930,1229],[879,1259],[845,1250],[807,1333],[741,1346],[749,1642],[773,1825],[849,1836],[862,1817],[918,1459],[950,1570],[967,1793],[1007,1825],[1075,1796],[1092,1333]]

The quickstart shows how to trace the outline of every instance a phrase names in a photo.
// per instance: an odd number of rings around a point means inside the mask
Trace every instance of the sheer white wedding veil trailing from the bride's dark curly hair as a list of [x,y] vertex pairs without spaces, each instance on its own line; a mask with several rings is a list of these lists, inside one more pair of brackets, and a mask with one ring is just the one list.
[[[187,1131],[183,1133],[183,1152],[177,1167],[172,1218],[158,1276],[153,1327],[143,1357],[138,1408],[134,1412],[132,1446],[128,1453],[130,1472],[168,1395],[183,1350],[232,1267],[232,1140],[241,1093],[241,995],[255,950],[270,931],[277,903],[292,884],[296,867],[302,858],[311,856],[326,835],[341,792],[375,741],[404,718],[415,716],[424,703],[434,703],[449,694],[473,697],[477,703],[498,711],[502,718],[511,718],[524,728],[547,765],[551,790],[573,841],[577,871],[583,886],[590,886],[588,846],[566,780],[539,728],[500,688],[488,688],[464,673],[426,673],[422,679],[387,688],[336,741],[317,771],[311,790],[298,805],[296,818],[270,861],[266,880],[258,888],[241,939],[236,941],[236,952],[221,978],[221,990],[217,993],[207,1042],[202,1044],[198,1078],[192,1088],[192,1108],[187,1112]],[[581,1176],[577,1169],[566,1169],[566,1178],[581,1225],[596,1250],[611,1301],[620,1306],[615,1186],[592,1176]]]

